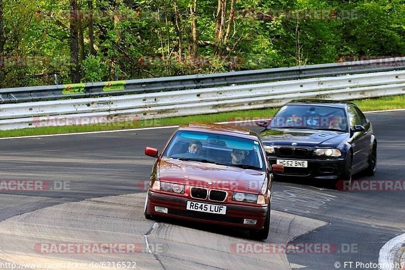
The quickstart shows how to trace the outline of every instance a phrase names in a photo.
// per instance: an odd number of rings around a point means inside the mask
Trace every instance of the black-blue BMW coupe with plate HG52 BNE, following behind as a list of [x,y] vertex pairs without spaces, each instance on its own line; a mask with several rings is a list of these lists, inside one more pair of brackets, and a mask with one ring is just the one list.
[[377,140],[353,103],[293,100],[258,125],[265,128],[260,137],[270,164],[284,165],[278,175],[337,182],[362,170],[376,172]]

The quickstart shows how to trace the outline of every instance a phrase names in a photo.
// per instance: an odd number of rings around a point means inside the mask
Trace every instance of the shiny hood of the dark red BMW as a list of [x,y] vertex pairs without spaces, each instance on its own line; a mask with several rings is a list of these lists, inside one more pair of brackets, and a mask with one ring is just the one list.
[[266,179],[262,171],[211,163],[163,159],[159,165],[160,181],[236,192],[259,194]]

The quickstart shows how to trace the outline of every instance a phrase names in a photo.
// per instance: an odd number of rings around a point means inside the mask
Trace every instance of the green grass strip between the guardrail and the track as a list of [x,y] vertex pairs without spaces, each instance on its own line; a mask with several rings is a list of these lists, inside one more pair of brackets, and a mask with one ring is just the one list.
[[[351,101],[362,111],[403,109],[405,108],[405,95],[368,98]],[[37,127],[17,130],[0,131],[0,137],[32,136],[45,134],[77,133],[91,131],[107,131],[120,129],[134,129],[160,126],[176,126],[188,124],[190,122],[228,122],[237,120],[248,120],[253,118],[269,118],[274,115],[278,108],[238,110],[230,112],[220,112],[213,114],[190,115],[186,117],[172,117],[163,119],[132,121],[120,124],[97,124],[86,126],[63,126],[63,127]]]

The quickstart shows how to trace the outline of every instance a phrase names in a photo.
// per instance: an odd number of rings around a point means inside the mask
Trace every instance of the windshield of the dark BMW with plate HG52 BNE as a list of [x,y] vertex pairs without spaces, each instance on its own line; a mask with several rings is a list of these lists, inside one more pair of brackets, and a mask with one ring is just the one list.
[[274,115],[270,128],[347,131],[347,118],[343,108],[318,105],[286,105]]

